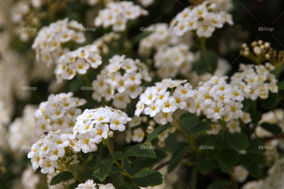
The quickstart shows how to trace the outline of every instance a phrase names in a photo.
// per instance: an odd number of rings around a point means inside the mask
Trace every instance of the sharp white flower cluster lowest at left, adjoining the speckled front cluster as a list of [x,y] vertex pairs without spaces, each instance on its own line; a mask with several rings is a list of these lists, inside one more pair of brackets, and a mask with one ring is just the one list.
[[28,158],[31,158],[33,169],[41,167],[42,173],[52,175],[59,163],[59,158],[63,157],[66,148],[72,147],[73,151],[80,151],[75,147],[74,137],[72,134],[66,134],[64,130],[55,132],[49,131],[47,135],[42,135],[41,138],[32,145],[31,151],[28,153]]

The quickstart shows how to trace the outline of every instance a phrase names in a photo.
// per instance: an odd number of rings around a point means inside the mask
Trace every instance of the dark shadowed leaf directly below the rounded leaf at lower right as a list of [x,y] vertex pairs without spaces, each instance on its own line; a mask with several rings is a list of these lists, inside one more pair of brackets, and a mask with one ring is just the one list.
[[218,164],[222,172],[230,172],[238,163],[239,153],[231,149],[223,149],[218,159]]

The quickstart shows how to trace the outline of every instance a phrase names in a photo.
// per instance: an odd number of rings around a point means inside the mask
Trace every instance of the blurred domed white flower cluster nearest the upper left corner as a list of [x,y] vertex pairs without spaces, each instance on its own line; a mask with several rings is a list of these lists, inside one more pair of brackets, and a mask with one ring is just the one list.
[[83,25],[76,20],[69,21],[68,18],[42,27],[32,46],[36,52],[36,60],[50,66],[68,51],[62,48],[64,43],[69,41],[85,42],[85,35],[81,32],[82,27]]

